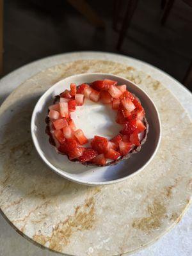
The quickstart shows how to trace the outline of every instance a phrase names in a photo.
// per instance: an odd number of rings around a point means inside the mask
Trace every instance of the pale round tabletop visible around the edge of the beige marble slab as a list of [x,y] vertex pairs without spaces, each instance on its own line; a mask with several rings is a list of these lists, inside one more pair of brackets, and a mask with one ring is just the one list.
[[[52,56],[45,58],[44,60],[35,61],[29,65],[26,65],[18,70],[15,70],[8,76],[4,77],[0,81],[0,92],[1,92],[1,102],[4,97],[6,97],[13,89],[15,89],[19,84],[24,82],[29,77],[33,76],[37,72],[44,70],[45,68],[58,65],[63,62],[70,62],[75,60],[109,60],[119,63],[125,63],[132,67],[137,68],[138,70],[143,70],[145,73],[152,76],[154,79],[159,80],[171,92],[179,99],[180,103],[184,108],[186,108],[191,115],[191,93],[188,92],[180,83],[175,81],[172,77],[164,74],[161,70],[154,68],[146,63],[143,63],[132,58],[125,56],[120,56],[116,54],[109,54],[104,52],[74,52],[69,54],[60,54],[58,56]],[[189,217],[191,210],[188,211],[187,216],[182,220],[178,227],[174,228],[170,234],[167,234],[166,237],[163,237],[158,243],[150,246],[138,252],[137,255],[190,255],[192,250],[191,248],[191,232],[188,229],[191,224]],[[20,237],[16,236],[13,230],[8,227],[8,224],[0,219],[0,255],[51,255],[51,252],[44,252],[36,248],[32,244],[29,244],[27,241],[22,240]],[[11,239],[7,239],[10,237]],[[18,243],[20,246],[18,246]],[[171,245],[174,244],[174,247],[170,249]],[[17,247],[17,249],[15,249]],[[15,252],[16,250],[16,252]],[[28,251],[28,253],[26,253]]]

